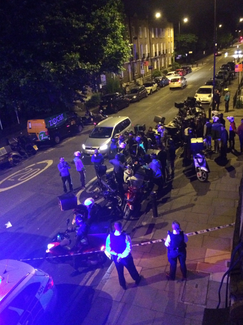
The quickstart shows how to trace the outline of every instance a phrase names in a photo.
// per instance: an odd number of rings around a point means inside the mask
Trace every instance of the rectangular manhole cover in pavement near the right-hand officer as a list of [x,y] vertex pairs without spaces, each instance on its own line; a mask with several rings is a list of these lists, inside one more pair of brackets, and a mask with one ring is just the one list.
[[179,301],[206,307],[210,273],[189,271],[189,276],[182,287]]

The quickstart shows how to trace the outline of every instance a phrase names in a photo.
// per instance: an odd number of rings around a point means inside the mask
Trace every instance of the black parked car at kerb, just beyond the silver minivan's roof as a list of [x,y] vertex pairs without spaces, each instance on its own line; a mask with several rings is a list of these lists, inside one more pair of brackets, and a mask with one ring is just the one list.
[[99,109],[105,114],[117,113],[124,107],[129,106],[129,100],[120,93],[108,94],[101,97]]

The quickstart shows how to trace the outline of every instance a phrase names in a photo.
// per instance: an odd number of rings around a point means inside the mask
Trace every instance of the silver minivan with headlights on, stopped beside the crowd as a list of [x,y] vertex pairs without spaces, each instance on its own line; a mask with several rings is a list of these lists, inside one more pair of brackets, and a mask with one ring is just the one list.
[[111,138],[126,132],[134,132],[134,126],[127,116],[112,116],[101,121],[82,145],[83,154],[86,157],[91,157],[95,153],[95,149],[98,149],[103,156],[109,155]]

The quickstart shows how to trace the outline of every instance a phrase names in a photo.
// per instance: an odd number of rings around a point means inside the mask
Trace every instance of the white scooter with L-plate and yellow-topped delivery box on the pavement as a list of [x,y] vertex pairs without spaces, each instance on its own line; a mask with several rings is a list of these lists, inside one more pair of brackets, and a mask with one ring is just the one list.
[[203,153],[203,139],[192,138],[191,149],[193,155],[193,163],[196,168],[197,178],[200,182],[206,182],[209,176],[209,167]]

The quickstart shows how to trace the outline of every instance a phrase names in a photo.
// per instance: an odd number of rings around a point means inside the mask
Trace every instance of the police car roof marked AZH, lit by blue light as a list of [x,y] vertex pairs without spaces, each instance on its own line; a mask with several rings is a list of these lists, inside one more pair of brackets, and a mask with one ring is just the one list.
[[[35,324],[55,297],[51,276],[29,264],[0,261],[0,323]],[[53,304],[52,304],[53,305]]]

